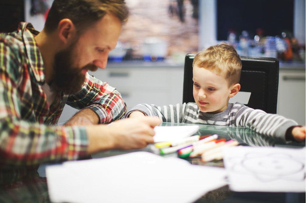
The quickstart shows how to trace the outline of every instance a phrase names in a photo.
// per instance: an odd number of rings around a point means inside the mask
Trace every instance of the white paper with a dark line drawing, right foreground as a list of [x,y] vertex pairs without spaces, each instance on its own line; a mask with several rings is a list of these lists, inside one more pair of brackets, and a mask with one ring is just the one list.
[[305,192],[305,148],[226,147],[223,162],[230,189]]

